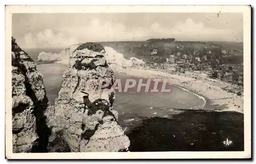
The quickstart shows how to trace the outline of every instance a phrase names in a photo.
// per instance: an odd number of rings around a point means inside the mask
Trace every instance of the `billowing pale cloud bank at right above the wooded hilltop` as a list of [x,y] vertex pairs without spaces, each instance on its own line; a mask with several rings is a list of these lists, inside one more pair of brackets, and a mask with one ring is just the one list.
[[242,41],[239,32],[229,29],[215,29],[205,27],[202,22],[194,22],[187,19],[178,22],[173,28],[161,27],[158,22],[154,22],[150,27],[149,37],[174,37],[176,40],[196,40],[196,41]]

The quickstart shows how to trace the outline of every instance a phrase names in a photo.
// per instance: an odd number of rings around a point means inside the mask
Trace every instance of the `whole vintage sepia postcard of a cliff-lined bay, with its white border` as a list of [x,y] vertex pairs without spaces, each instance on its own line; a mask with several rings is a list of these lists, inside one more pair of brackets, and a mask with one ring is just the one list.
[[251,158],[250,6],[6,6],[6,158]]

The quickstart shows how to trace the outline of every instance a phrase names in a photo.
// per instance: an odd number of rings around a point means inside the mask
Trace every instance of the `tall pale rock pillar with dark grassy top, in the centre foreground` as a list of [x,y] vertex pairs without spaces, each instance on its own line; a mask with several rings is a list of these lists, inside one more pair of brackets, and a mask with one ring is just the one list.
[[[98,89],[101,80],[109,87]],[[49,110],[49,152],[126,151],[129,138],[117,123],[113,109],[115,82],[105,60],[105,50],[97,43],[85,43],[70,55],[63,74],[54,111]]]

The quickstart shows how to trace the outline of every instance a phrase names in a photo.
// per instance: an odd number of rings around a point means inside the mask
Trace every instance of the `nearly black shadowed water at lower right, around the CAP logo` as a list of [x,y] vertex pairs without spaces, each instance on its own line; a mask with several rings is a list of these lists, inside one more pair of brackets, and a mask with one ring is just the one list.
[[[172,119],[138,118],[125,133],[135,152],[244,151],[243,119],[238,112],[183,110]],[[229,146],[223,143],[227,138]]]

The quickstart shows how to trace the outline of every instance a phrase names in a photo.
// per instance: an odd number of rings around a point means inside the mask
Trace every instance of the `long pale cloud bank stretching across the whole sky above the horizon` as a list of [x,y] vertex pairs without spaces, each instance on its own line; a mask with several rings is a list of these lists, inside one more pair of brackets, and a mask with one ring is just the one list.
[[[221,37],[220,37],[221,36]],[[126,41],[146,40],[150,38],[174,37],[176,40],[195,41],[242,41],[242,35],[228,29],[216,29],[204,26],[202,22],[193,19],[177,22],[171,28],[153,22],[147,27],[127,27],[122,23],[100,21],[93,19],[82,26],[44,29],[39,32],[29,32],[17,38],[24,48],[63,48],[71,44],[88,41]]]

